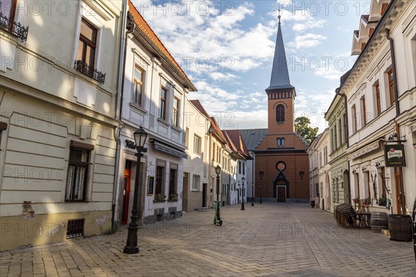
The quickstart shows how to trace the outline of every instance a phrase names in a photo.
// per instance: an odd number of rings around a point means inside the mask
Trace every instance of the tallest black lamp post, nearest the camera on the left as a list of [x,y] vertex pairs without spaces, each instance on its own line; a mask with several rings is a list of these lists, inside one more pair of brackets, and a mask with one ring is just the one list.
[[137,219],[139,218],[139,205],[137,204],[139,197],[141,199],[141,188],[139,189],[139,178],[140,178],[140,159],[143,157],[142,152],[147,152],[147,149],[144,148],[144,143],[146,143],[147,133],[140,126],[140,128],[135,132],[135,142],[137,149],[137,168],[136,168],[136,179],[135,179],[135,195],[133,198],[133,208],[132,208],[132,217],[130,224],[128,225],[128,235],[127,243],[124,247],[124,253],[126,254],[135,254],[139,253],[139,246],[137,245],[137,230],[139,229],[139,224]]

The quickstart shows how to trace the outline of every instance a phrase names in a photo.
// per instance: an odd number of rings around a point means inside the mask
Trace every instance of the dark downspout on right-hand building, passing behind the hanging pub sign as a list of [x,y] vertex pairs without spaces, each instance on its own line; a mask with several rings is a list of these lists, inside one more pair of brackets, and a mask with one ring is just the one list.
[[[390,29],[385,28],[385,37],[390,42],[390,56],[392,57],[392,71],[393,71],[393,81],[395,85],[393,88],[395,89],[395,105],[396,105],[396,116],[400,114],[400,106],[399,106],[399,86],[397,83],[397,67],[396,67],[396,55],[395,55],[395,41],[390,37]],[[399,123],[395,120],[396,123],[396,134],[400,140],[400,126]],[[399,143],[397,143],[399,144]],[[401,214],[406,215],[406,201],[404,196],[404,184],[403,184],[403,168],[399,168],[399,176],[400,176],[400,192],[399,192],[399,203],[401,206]]]

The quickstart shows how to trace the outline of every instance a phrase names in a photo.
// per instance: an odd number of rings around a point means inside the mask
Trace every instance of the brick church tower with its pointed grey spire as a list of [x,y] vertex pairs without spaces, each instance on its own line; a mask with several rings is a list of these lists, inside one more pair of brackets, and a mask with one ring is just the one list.
[[268,131],[295,132],[295,87],[291,85],[288,72],[288,60],[284,51],[283,36],[281,35],[280,15],[277,28],[275,57],[272,64],[270,86],[266,89],[268,96]]

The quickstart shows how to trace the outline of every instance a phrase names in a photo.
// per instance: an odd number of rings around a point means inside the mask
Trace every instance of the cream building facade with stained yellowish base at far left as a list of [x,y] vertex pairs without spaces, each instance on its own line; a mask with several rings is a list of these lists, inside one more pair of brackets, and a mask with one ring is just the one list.
[[105,233],[122,1],[2,3],[0,250]]

